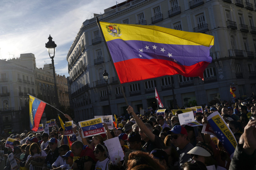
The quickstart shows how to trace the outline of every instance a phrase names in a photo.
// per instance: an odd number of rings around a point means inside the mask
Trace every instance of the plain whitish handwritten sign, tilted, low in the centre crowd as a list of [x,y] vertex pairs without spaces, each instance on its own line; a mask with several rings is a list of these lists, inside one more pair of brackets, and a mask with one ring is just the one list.
[[114,162],[114,157],[116,155],[121,157],[121,161],[124,160],[124,152],[118,137],[105,140],[104,144],[108,148],[108,153],[112,162]]

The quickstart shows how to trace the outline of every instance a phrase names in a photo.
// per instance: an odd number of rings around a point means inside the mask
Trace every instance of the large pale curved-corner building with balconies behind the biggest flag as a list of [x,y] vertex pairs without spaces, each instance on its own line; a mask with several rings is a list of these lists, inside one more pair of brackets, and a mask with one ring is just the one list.
[[[213,60],[204,71],[204,81],[174,75],[122,84],[135,112],[157,108],[155,87],[164,107],[172,108],[174,103],[189,107],[214,99],[231,100],[230,85],[237,89],[238,98],[250,97],[256,91],[255,5],[253,0],[133,0],[95,14],[104,22],[156,25],[214,36]],[[125,113],[126,104],[95,18],[82,24],[67,61],[76,119],[108,115],[110,106],[111,114]],[[102,76],[104,69],[109,74],[108,87]]]

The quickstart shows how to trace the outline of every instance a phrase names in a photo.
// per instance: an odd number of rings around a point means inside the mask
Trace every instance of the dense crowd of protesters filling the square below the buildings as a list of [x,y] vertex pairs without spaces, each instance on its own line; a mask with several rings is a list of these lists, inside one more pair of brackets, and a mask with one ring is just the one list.
[[[182,108],[181,108],[182,109]],[[65,144],[62,128],[52,128],[47,133],[9,134],[13,149],[5,147],[6,137],[1,137],[1,151],[7,157],[13,153],[21,170],[241,170],[254,169],[256,158],[256,101],[238,100],[231,103],[216,103],[203,106],[203,113],[197,112],[198,123],[208,123],[207,116],[218,111],[238,145],[234,155],[229,155],[221,142],[217,146],[209,134],[202,133],[203,126],[180,125],[179,114],[166,109],[165,115],[150,112],[136,114],[131,106],[128,113],[117,118],[118,127],[110,129],[103,123],[106,134],[82,137],[82,129],[76,124],[75,136]],[[72,118],[65,115],[69,121]],[[28,137],[25,144],[20,141]],[[113,164],[105,140],[118,137],[124,152],[124,160]],[[1,160],[3,161],[3,160]],[[11,170],[6,159],[4,170]]]

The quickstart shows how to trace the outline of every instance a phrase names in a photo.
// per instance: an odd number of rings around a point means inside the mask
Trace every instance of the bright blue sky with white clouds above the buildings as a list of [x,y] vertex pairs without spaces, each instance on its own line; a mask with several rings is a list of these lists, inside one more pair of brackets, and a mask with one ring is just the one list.
[[116,0],[1,0],[0,57],[33,53],[38,68],[52,63],[45,48],[51,34],[55,71],[68,77],[68,50],[83,22],[114,5]]

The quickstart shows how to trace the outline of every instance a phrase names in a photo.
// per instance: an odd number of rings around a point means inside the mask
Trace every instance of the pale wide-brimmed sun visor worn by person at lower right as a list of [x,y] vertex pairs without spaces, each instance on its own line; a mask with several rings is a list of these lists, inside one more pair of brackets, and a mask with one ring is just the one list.
[[191,149],[188,154],[193,154],[193,155],[200,155],[200,156],[213,156],[213,152],[210,149],[210,147],[203,143],[203,142],[198,142],[196,146]]

